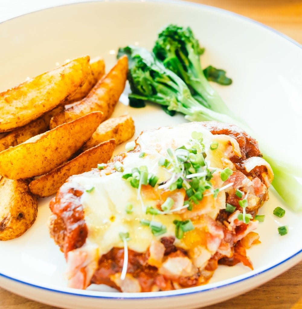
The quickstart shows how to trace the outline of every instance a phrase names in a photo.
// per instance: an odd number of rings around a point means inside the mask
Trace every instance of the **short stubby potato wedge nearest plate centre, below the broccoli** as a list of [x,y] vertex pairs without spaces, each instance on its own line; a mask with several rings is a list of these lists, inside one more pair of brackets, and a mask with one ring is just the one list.
[[131,116],[124,115],[117,118],[109,118],[98,126],[81,150],[85,151],[111,138],[114,138],[116,145],[119,145],[132,138],[134,131],[134,121]]

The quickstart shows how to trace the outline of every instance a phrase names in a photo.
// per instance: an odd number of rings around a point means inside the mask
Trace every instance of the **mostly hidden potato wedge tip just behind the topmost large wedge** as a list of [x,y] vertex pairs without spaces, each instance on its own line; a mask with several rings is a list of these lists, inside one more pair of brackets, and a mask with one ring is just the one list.
[[76,91],[76,93],[68,100],[67,104],[82,100],[88,95],[90,90],[105,74],[105,62],[101,57],[90,60],[90,74],[88,74],[85,84]]

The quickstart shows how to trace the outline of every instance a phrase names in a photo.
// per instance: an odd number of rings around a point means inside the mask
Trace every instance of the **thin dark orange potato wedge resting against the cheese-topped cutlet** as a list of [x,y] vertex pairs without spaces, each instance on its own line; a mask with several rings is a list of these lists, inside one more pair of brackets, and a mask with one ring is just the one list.
[[115,140],[103,142],[90,148],[78,157],[63,163],[50,173],[41,176],[29,184],[31,193],[39,197],[55,194],[69,176],[81,174],[97,167],[98,163],[107,163],[115,149]]

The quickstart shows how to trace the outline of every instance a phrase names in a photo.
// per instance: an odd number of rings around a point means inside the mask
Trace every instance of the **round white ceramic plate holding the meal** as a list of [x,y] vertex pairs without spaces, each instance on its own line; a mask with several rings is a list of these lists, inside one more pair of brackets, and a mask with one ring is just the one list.
[[[227,70],[230,87],[217,88],[270,147],[301,166],[302,49],[250,19],[216,8],[185,2],[90,2],[55,7],[0,24],[0,91],[53,68],[57,62],[89,54],[103,55],[107,68],[120,46],[151,48],[168,23],[190,25],[206,47],[203,65]],[[125,102],[126,95],[121,101]],[[115,115],[131,114],[136,135],[143,129],[184,122],[161,108],[133,109],[120,103]],[[122,149],[124,145],[120,146]],[[117,151],[119,151],[117,149]],[[298,154],[298,155],[297,155]],[[254,264],[219,266],[209,284],[183,290],[120,294],[66,287],[65,260],[48,235],[49,199],[40,201],[35,224],[22,237],[0,243],[0,286],[20,295],[66,308],[195,308],[244,293],[302,259],[302,214],[293,213],[270,190],[260,210],[261,244],[248,250]],[[276,206],[286,209],[273,216]],[[288,225],[279,236],[277,227]]]

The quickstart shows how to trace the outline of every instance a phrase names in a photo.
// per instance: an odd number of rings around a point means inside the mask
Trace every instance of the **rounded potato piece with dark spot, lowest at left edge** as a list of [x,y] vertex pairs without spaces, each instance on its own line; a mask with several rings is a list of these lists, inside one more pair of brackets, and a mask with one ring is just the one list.
[[35,222],[38,200],[28,189],[30,179],[0,179],[0,240],[21,236]]

